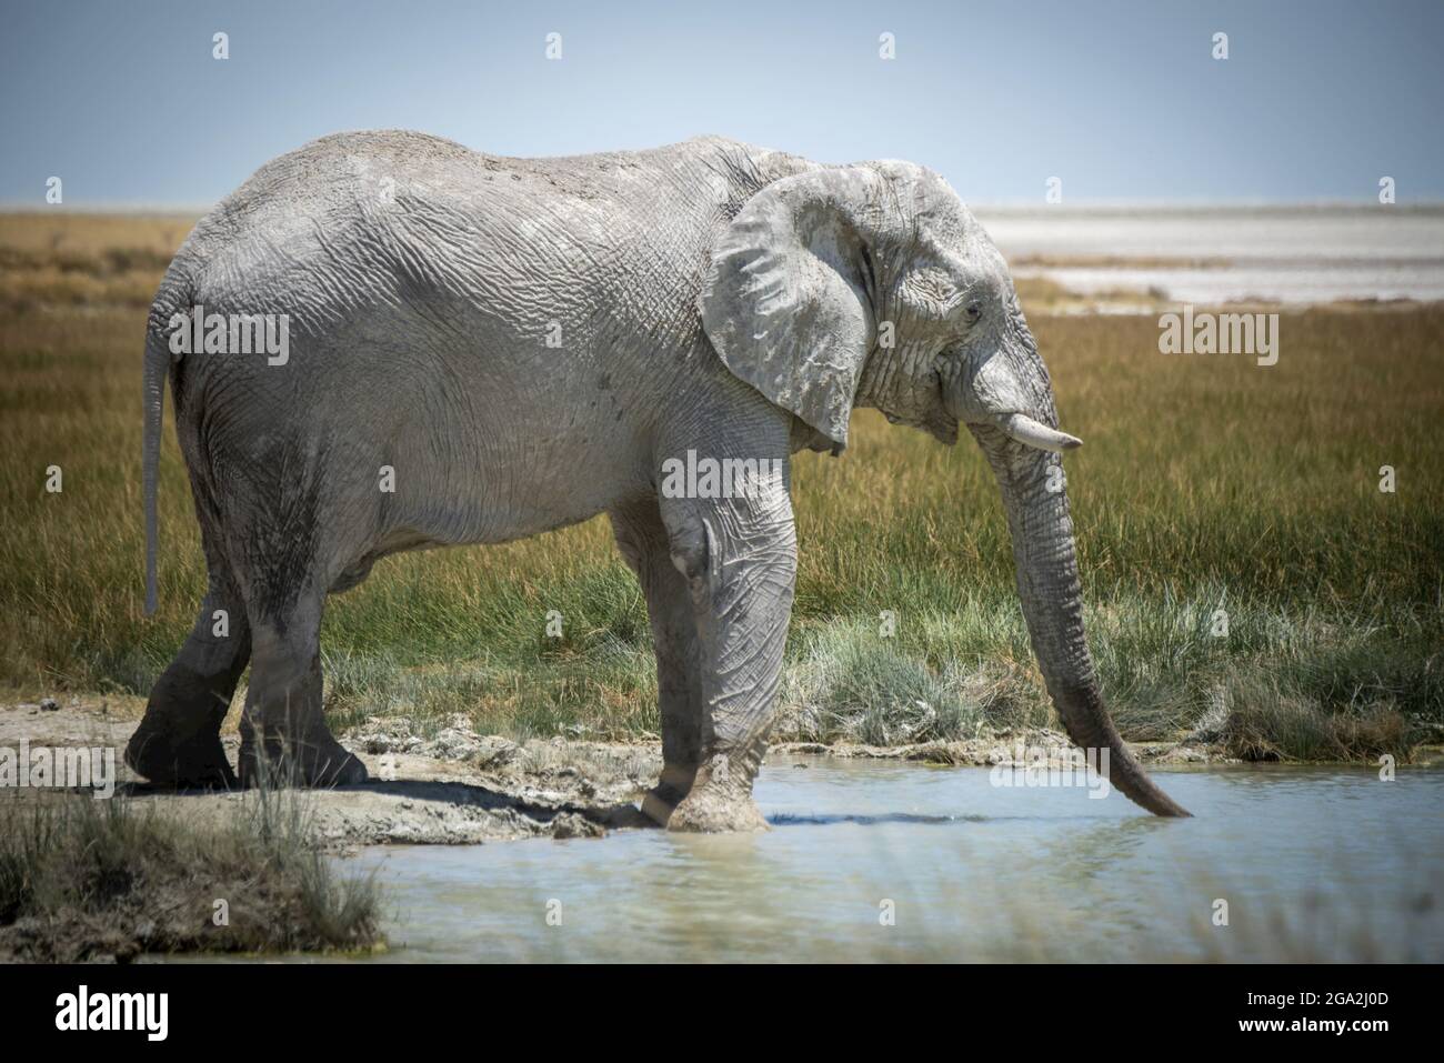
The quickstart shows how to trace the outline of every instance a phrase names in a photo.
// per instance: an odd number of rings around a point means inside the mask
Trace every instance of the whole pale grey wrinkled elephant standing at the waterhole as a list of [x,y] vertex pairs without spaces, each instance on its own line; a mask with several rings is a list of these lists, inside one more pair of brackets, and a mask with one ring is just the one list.
[[[193,303],[289,313],[289,363],[173,358],[169,321]],[[310,784],[362,781],[322,719],[325,596],[388,553],[605,511],[657,651],[666,770],[644,810],[674,829],[761,826],[751,787],[796,578],[788,459],[840,452],[851,410],[871,406],[943,443],[967,425],[1002,487],[1069,734],[1108,748],[1113,784],[1141,806],[1184,815],[1099,699],[1067,495],[1048,490],[1058,458],[1037,449],[1077,441],[1053,430],[1002,257],[930,170],[820,166],[718,137],[569,159],[416,133],[325,137],[206,217],[156,296],[152,543],[168,374],[209,591],[127,750],[156,783],[232,781],[218,728],[247,660],[241,781],[263,763]],[[660,497],[661,464],[689,449],[788,471],[748,497]],[[153,608],[153,556],[149,581]],[[211,634],[215,609],[228,638]]]

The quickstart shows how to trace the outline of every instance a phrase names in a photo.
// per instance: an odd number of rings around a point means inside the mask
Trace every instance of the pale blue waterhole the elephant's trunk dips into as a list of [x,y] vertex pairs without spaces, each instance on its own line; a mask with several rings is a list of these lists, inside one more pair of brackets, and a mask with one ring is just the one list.
[[377,871],[401,962],[1444,959],[1444,771],[1155,774],[1194,819],[986,768],[787,758],[757,783],[768,833],[342,867]]

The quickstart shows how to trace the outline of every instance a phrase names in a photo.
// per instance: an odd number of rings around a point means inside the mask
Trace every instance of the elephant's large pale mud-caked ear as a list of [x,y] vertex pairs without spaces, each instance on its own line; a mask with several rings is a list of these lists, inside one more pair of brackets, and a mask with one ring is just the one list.
[[768,185],[722,231],[697,298],[723,364],[839,449],[877,335],[864,228],[879,185],[864,168]]

